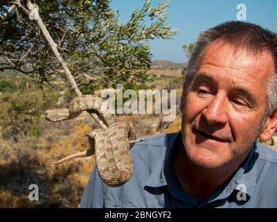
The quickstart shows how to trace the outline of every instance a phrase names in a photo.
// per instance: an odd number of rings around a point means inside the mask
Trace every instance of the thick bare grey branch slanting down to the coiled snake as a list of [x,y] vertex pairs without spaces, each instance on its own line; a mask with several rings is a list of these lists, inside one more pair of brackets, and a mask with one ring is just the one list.
[[[62,65],[62,68],[64,69],[64,72],[65,72],[66,79],[68,80],[68,82],[71,86],[71,89],[73,89],[74,92],[78,96],[82,96],[82,93],[80,92],[80,89],[78,88],[78,85],[75,82],[74,77],[71,75],[71,72],[70,72],[69,68],[67,67],[66,62],[64,62],[62,56],[60,55],[60,52],[57,50],[57,44],[54,42],[54,40],[51,37],[50,33],[48,32],[46,26],[42,22],[41,17],[39,17],[38,6],[33,5],[33,3],[31,3],[30,0],[27,0],[27,8],[28,8],[28,10],[30,10],[29,18],[36,20],[39,28],[42,30],[42,33],[46,37],[46,40],[47,40],[48,44],[50,45],[53,53],[55,53],[57,60]],[[103,130],[107,130],[107,126],[105,125],[105,123],[103,123],[103,121],[98,117],[98,115],[96,113],[92,112],[91,116]]]

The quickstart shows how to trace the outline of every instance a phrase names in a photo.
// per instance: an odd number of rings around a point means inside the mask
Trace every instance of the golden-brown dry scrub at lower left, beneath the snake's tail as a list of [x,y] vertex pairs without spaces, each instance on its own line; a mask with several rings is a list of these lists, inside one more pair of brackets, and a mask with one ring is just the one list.
[[[69,137],[48,148],[33,150],[28,141],[10,146],[9,155],[0,161],[0,207],[77,207],[93,169],[94,159],[75,160],[54,166],[65,155],[87,149],[87,125],[72,129]],[[0,146],[1,152],[5,147]],[[3,160],[5,157],[6,160]],[[39,201],[28,199],[29,185],[39,186]],[[65,205],[66,203],[66,205]]]

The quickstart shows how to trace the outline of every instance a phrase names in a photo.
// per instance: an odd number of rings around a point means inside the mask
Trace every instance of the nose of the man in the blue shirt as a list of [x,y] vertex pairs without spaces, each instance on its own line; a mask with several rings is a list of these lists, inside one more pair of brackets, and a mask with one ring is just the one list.
[[202,115],[205,117],[208,124],[213,125],[215,123],[226,124],[228,121],[227,109],[228,99],[224,94],[217,94],[208,103],[206,108],[202,111]]

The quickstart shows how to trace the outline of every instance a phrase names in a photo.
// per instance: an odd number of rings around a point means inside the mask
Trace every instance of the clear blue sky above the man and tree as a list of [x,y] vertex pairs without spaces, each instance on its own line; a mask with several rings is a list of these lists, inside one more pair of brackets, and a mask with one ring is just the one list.
[[[161,0],[152,0],[154,6]],[[142,8],[144,0],[111,0],[111,8],[120,10],[120,20],[129,20],[134,8]],[[247,21],[277,32],[276,0],[171,0],[167,10],[168,23],[181,33],[174,40],[150,41],[153,60],[186,62],[183,44],[195,42],[199,31],[222,22],[237,20],[237,5],[247,7]]]

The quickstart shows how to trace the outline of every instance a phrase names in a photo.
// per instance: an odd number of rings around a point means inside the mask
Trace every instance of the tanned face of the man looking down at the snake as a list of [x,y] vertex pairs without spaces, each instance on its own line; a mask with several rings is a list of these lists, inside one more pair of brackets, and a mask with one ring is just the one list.
[[244,160],[265,115],[266,85],[273,72],[268,51],[249,53],[220,41],[205,49],[180,105],[190,160],[208,168]]

